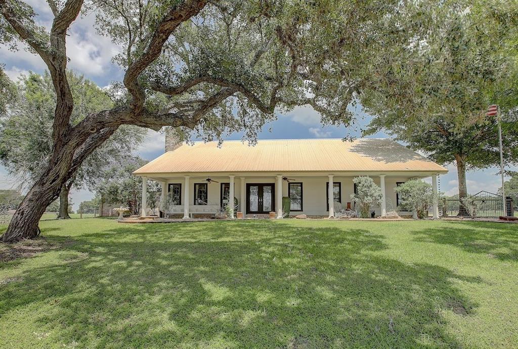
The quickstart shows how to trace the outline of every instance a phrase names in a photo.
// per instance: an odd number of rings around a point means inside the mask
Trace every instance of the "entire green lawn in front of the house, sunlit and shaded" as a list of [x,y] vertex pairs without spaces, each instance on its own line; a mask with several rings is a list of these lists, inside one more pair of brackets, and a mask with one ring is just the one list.
[[[518,226],[42,221],[0,348],[515,348]],[[5,227],[0,227],[0,231]]]

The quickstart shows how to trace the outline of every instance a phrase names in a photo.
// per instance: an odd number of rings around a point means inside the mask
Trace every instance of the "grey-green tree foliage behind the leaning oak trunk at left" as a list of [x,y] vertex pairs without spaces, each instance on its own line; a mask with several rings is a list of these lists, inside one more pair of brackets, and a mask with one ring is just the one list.
[[[71,71],[67,77],[75,103],[70,117],[71,125],[91,113],[112,106],[108,94],[92,81]],[[30,186],[41,176],[53,151],[52,123],[56,95],[47,72],[42,76],[29,73],[21,79],[18,89],[18,99],[11,100],[8,115],[0,120],[0,162],[12,175]],[[76,188],[84,185],[93,188],[100,171],[129,156],[142,137],[142,129],[121,127],[84,161],[64,186],[63,195],[68,197],[72,185]],[[68,199],[62,200],[66,206]],[[64,207],[64,212],[67,211],[68,208]]]

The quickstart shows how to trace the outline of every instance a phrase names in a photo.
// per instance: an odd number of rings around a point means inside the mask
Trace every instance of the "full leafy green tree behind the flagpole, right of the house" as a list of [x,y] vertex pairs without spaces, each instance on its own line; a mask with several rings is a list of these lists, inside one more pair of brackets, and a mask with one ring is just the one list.
[[362,103],[376,115],[364,134],[385,131],[442,164],[455,163],[459,196],[467,196],[466,170],[499,164],[498,127],[485,115],[488,105],[502,111],[504,158],[518,161],[516,37],[518,7],[512,2],[473,2],[450,11],[399,55],[380,64],[375,89]]

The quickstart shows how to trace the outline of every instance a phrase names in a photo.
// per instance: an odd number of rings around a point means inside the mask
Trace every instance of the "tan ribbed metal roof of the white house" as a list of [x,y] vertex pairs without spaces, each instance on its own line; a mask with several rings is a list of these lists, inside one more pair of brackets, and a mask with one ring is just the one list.
[[183,144],[135,174],[193,172],[393,171],[448,172],[386,138],[276,139],[249,146],[240,141]]

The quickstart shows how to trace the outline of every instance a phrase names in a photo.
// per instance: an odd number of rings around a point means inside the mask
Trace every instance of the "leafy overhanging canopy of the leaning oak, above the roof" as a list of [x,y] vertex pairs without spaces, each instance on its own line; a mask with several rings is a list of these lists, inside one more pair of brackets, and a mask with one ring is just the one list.
[[348,124],[347,106],[371,81],[371,57],[408,43],[413,20],[425,17],[397,1],[197,5],[203,10],[166,30],[163,44],[154,41],[157,13],[170,2],[108,1],[95,13],[99,34],[125,47],[115,58],[128,71],[120,103],[162,111],[147,115],[146,127],[180,126],[207,140],[242,131],[253,142],[276,108],[298,105],[311,105],[323,123]]

